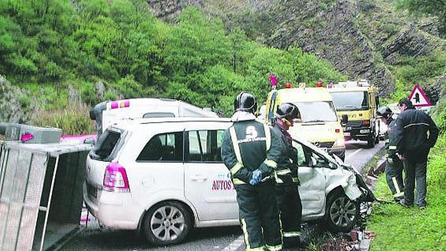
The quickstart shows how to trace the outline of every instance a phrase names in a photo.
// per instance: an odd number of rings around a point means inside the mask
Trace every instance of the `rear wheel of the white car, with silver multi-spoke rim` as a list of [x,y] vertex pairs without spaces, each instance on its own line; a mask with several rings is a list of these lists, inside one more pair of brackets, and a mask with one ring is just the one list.
[[164,201],[147,211],[143,223],[147,241],[159,246],[183,241],[192,229],[191,213],[176,201]]

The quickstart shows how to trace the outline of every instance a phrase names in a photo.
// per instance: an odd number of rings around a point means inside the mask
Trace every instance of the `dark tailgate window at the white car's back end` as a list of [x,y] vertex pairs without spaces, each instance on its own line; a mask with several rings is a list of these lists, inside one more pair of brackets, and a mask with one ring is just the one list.
[[[122,132],[118,130],[105,130],[101,134],[93,150],[90,152],[90,157],[96,160],[109,161],[114,158],[117,152],[118,142],[121,139]],[[114,151],[115,150],[115,151]]]

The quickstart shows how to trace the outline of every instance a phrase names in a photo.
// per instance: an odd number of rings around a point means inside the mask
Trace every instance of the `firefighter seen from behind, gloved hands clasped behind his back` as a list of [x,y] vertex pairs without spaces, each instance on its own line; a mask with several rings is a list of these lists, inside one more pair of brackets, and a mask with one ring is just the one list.
[[221,159],[237,192],[246,250],[282,250],[274,171],[284,146],[275,130],[255,121],[254,96],[241,92],[234,100],[234,122],[225,131]]

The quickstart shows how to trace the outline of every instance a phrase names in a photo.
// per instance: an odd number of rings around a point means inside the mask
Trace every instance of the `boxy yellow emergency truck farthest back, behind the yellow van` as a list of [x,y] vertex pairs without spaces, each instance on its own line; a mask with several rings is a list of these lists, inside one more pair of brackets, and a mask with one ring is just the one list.
[[378,89],[366,80],[328,84],[338,116],[346,114],[344,127],[346,140],[366,140],[367,147],[374,147],[380,140],[380,120],[376,111],[379,105]]

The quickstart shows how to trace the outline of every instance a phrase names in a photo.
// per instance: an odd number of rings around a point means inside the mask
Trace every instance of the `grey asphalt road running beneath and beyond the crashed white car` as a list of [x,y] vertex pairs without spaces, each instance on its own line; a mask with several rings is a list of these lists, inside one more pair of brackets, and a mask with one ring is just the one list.
[[[365,141],[347,141],[345,162],[353,164],[362,173],[365,164],[384,147],[380,141],[373,149],[365,148]],[[217,227],[194,229],[189,239],[179,245],[158,247],[137,237],[135,231],[102,229],[93,219],[59,250],[222,250],[241,251],[244,249],[240,227]],[[287,250],[300,250],[298,248]]]

